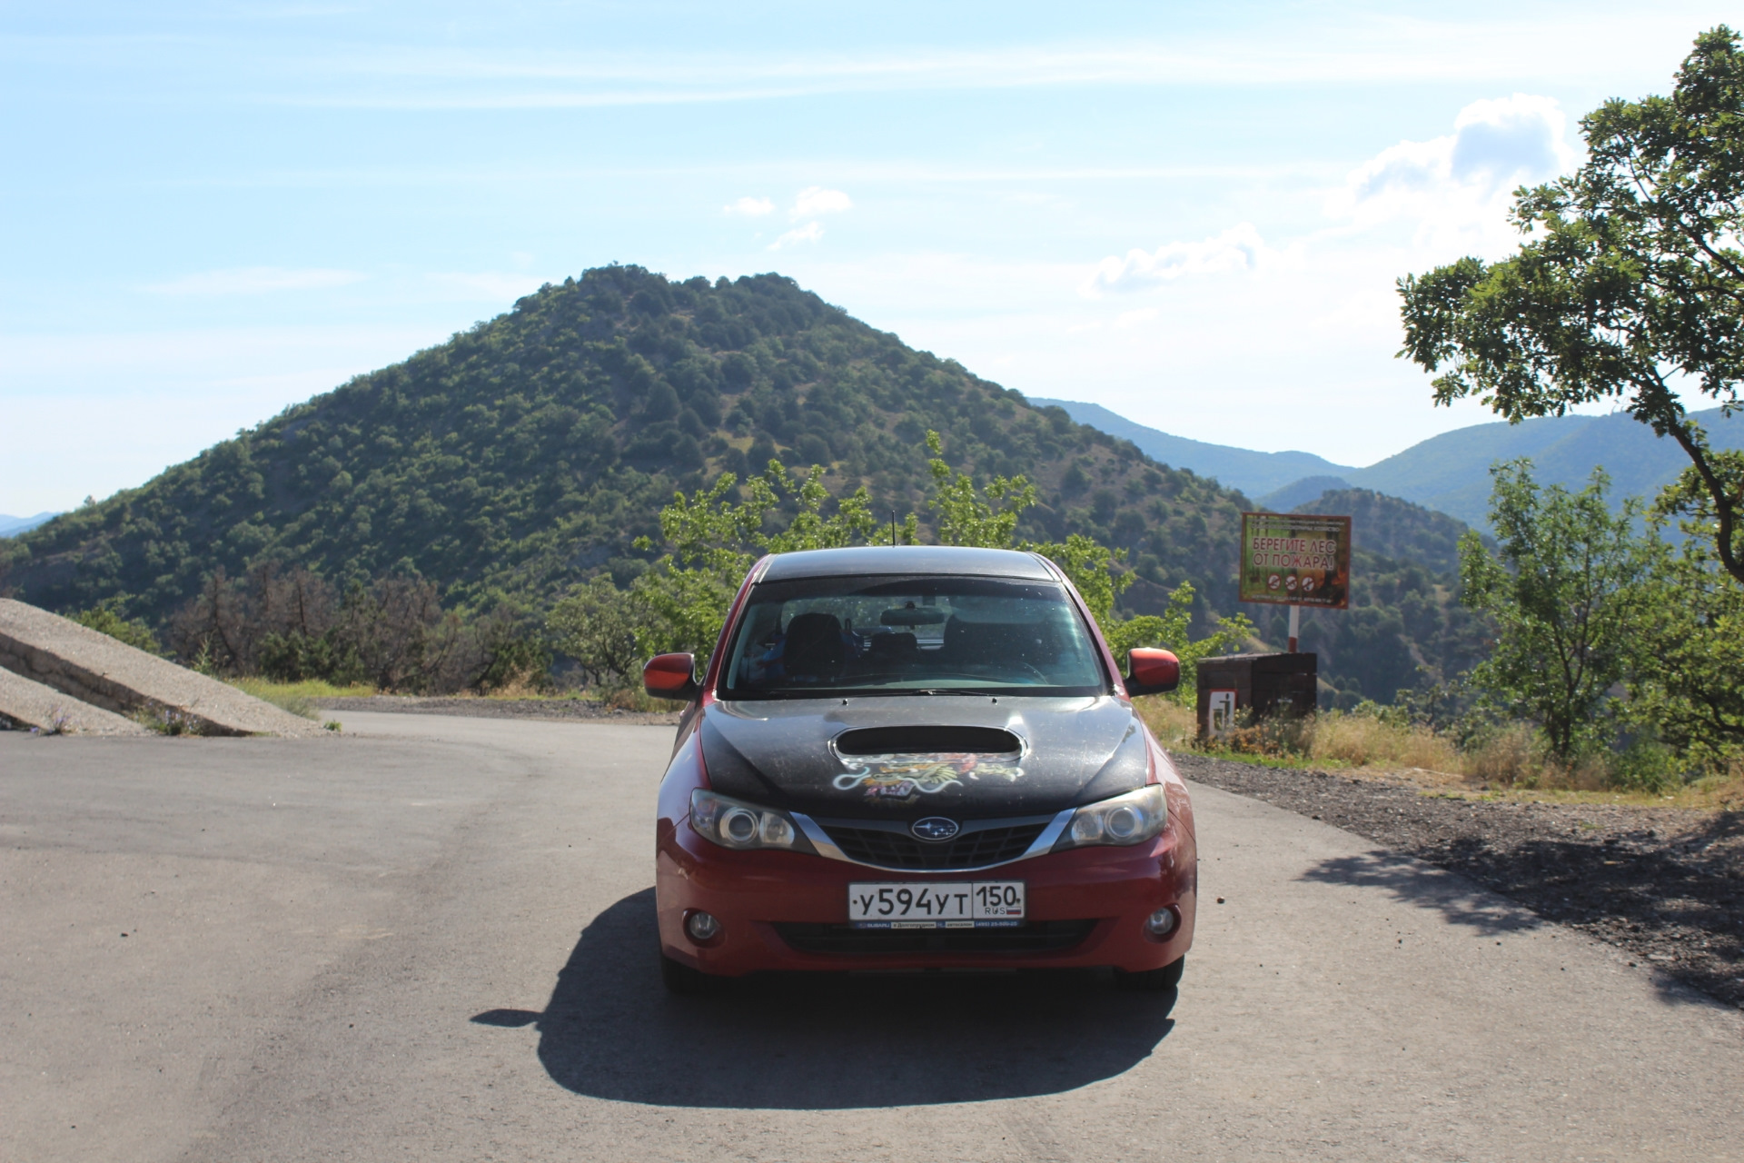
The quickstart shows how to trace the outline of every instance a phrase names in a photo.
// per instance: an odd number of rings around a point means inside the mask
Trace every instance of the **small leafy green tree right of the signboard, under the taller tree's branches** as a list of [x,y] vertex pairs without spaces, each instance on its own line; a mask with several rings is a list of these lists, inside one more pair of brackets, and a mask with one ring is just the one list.
[[1470,682],[1498,710],[1538,722],[1566,762],[1631,673],[1652,546],[1634,534],[1636,502],[1611,514],[1603,469],[1578,493],[1540,488],[1529,460],[1491,474],[1500,553],[1475,532],[1460,539],[1463,600],[1496,624],[1495,650]]

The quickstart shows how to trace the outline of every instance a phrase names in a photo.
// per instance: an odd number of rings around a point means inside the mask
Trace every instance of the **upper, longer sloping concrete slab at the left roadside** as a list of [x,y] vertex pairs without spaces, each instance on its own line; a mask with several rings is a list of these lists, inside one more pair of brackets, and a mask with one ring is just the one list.
[[326,734],[302,715],[10,598],[0,598],[0,666],[117,715],[180,715],[199,734]]

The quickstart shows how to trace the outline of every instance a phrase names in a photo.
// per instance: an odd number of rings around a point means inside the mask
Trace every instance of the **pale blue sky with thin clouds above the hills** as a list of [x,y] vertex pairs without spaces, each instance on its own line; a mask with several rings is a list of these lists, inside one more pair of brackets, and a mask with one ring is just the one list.
[[1032,396],[1369,464],[1489,418],[1393,359],[1393,279],[1505,255],[1507,190],[1728,16],[7,3],[0,513],[609,262],[780,270]]

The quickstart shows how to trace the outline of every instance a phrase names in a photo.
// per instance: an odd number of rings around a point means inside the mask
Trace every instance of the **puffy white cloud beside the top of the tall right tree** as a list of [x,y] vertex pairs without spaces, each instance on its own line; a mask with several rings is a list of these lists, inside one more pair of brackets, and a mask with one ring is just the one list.
[[1381,150],[1348,174],[1327,211],[1362,227],[1414,223],[1418,244],[1437,251],[1512,246],[1512,192],[1577,162],[1561,106],[1516,92],[1467,105],[1451,134]]

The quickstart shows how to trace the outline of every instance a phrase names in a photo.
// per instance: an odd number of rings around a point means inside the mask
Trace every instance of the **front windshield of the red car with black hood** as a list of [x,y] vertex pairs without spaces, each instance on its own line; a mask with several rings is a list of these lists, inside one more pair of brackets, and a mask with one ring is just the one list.
[[1106,690],[1083,619],[1052,582],[807,577],[752,589],[722,671],[727,699],[923,690]]

